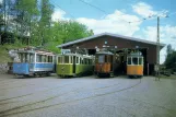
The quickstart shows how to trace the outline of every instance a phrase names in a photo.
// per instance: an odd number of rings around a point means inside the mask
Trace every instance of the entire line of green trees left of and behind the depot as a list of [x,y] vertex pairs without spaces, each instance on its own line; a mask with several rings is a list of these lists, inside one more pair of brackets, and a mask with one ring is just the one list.
[[54,4],[49,0],[2,0],[0,44],[43,46],[57,51],[59,44],[93,35],[92,30],[79,22],[54,22],[52,13]]

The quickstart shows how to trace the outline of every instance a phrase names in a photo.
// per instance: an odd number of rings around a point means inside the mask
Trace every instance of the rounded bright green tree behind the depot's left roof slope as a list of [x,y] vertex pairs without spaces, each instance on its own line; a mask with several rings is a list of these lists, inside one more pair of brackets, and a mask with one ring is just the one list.
[[57,45],[72,42],[93,35],[92,30],[75,21],[54,22],[50,30],[50,40],[47,43],[47,49],[58,51]]

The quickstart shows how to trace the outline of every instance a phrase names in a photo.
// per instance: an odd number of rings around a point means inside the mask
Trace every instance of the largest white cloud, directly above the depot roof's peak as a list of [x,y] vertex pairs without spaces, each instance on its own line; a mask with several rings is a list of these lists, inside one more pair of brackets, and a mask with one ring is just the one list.
[[116,10],[114,13],[105,15],[101,20],[79,17],[78,22],[83,23],[92,28],[95,34],[109,32],[118,33],[121,35],[132,36],[134,32],[139,31],[141,22],[129,25],[130,21],[138,21],[136,15],[125,14],[121,11]]

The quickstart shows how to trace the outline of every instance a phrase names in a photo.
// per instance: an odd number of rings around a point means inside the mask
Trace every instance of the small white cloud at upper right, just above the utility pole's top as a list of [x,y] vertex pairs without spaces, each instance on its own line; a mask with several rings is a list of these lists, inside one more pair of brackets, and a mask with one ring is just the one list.
[[133,4],[132,9],[136,13],[138,13],[139,15],[143,17],[157,14],[157,11],[154,11],[150,4],[144,3],[144,2],[138,2],[137,4]]

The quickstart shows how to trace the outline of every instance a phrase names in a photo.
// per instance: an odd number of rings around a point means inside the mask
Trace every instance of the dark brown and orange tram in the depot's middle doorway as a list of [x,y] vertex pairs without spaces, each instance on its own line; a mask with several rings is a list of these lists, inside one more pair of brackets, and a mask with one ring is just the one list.
[[95,74],[97,77],[114,77],[114,54],[108,50],[97,51],[95,55]]

